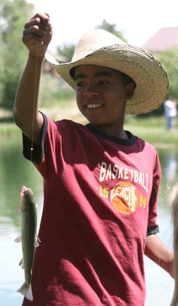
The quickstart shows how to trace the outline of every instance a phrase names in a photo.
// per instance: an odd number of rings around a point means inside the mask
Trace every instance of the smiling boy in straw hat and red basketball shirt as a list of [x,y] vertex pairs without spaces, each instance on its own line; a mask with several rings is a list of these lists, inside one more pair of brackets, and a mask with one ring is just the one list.
[[54,122],[38,112],[41,65],[51,37],[47,13],[25,24],[29,57],[14,105],[24,155],[31,159],[33,138],[33,162],[44,177],[34,300],[24,299],[23,305],[141,306],[143,254],[171,275],[173,256],[156,235],[157,153],[123,124],[125,113],[148,112],[162,103],[167,74],[141,48],[103,30],[86,33],[71,63],[54,64],[75,88],[77,106],[90,123]]

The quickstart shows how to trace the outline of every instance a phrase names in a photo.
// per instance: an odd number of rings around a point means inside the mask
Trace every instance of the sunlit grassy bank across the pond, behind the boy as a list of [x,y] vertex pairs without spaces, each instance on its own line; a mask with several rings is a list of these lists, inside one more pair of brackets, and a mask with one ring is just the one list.
[[[82,124],[86,123],[86,119],[79,113],[74,101],[70,101],[65,107],[56,106],[41,110],[54,120],[68,118]],[[165,129],[166,121],[164,116],[138,118],[127,115],[124,129],[152,143],[155,147],[178,147],[178,118],[176,118],[175,122],[175,130],[171,134]],[[10,118],[8,120],[1,119],[0,137],[19,137],[20,135],[21,132],[13,120],[10,120]]]

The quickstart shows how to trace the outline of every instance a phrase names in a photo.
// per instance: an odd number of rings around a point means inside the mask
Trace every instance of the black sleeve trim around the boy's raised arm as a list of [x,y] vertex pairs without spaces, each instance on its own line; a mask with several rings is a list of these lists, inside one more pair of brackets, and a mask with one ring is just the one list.
[[[22,133],[22,142],[23,142],[23,156],[32,162],[36,164],[41,164],[43,155],[44,155],[44,141],[47,133],[47,128],[48,128],[48,120],[45,114],[40,112],[43,116],[44,122],[43,122],[43,127],[42,127],[42,132],[41,132],[41,143],[36,144],[33,143],[33,151],[31,150],[32,147],[32,140],[27,138],[23,133]],[[32,154],[31,154],[32,152]],[[32,155],[32,156],[31,156]]]

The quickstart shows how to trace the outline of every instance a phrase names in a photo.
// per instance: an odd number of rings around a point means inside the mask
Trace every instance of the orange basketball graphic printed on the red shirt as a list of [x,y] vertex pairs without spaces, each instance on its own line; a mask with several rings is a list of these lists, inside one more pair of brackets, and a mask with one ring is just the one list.
[[132,214],[138,205],[138,193],[129,182],[119,182],[110,193],[114,209],[123,214]]

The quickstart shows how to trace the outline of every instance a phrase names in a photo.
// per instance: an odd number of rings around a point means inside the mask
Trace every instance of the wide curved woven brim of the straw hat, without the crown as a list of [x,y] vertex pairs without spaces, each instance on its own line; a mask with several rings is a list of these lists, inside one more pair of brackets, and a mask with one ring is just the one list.
[[169,80],[161,63],[146,50],[127,44],[100,48],[71,63],[59,64],[46,57],[58,74],[75,89],[70,70],[79,65],[105,66],[129,75],[136,83],[133,97],[127,101],[126,114],[141,114],[157,109],[168,94]]

